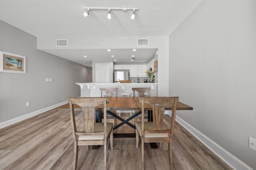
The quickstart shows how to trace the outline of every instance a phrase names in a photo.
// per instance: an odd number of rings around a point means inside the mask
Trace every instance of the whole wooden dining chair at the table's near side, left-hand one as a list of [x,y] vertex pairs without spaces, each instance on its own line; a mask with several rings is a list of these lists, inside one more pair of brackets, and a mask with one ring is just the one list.
[[[113,123],[106,121],[108,101],[109,98],[68,98],[74,138],[74,170],[77,168],[79,145],[86,145],[87,149],[89,149],[89,145],[104,145],[104,170],[106,170],[107,139],[109,137],[110,147],[113,149]],[[76,129],[74,104],[82,107],[83,111],[84,124],[80,131]],[[95,108],[100,104],[104,105],[104,123],[95,123]]]

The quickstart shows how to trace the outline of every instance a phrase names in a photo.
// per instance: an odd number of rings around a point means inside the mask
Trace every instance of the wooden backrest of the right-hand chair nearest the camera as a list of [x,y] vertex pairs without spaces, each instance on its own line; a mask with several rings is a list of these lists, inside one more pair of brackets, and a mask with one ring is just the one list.
[[[150,97],[139,98],[139,102],[142,106],[142,136],[144,133],[169,133],[170,139],[172,139],[176,118],[176,107],[179,97]],[[153,130],[144,130],[144,107],[145,104],[149,104],[153,107]],[[164,120],[164,110],[166,107],[172,107],[172,117],[170,121],[170,128],[162,130],[162,124]]]

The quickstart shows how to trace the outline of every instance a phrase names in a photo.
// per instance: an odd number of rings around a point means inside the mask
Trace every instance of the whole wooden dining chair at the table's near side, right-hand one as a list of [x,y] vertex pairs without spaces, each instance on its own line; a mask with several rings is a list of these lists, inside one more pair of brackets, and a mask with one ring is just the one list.
[[[142,121],[135,122],[136,126],[136,148],[139,147],[139,137],[141,139],[141,167],[144,169],[144,143],[168,142],[170,170],[173,170],[172,164],[172,136],[174,133],[174,124],[176,117],[176,105],[179,97],[143,97],[139,98],[142,107]],[[151,106],[149,106],[149,105]],[[153,122],[144,122],[144,109],[153,107]],[[166,107],[172,107],[172,117],[170,128],[164,123],[164,110]]]

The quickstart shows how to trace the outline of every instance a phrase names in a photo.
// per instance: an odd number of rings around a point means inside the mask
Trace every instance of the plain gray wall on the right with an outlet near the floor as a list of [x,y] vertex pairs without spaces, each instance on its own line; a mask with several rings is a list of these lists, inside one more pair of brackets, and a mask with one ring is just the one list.
[[169,37],[178,116],[256,169],[256,1],[204,0]]

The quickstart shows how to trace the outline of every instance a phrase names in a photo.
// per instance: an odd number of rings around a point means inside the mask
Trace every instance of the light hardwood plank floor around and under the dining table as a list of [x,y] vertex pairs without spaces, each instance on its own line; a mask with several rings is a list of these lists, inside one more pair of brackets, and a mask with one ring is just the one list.
[[[76,111],[76,119],[81,127],[81,111]],[[164,116],[164,123],[166,126],[170,124],[170,115]],[[135,132],[126,126],[117,129],[117,133],[120,131]],[[53,109],[0,129],[0,169],[70,170],[73,145],[69,111]],[[135,138],[114,138],[114,150],[110,150],[109,140],[107,145],[107,169],[140,170],[141,141],[139,148],[136,148]],[[150,149],[149,144],[144,146],[146,170],[169,168],[167,143],[163,143],[161,149]],[[232,169],[178,123],[172,149],[176,170]],[[103,169],[103,147],[99,150],[79,147],[78,169]]]

